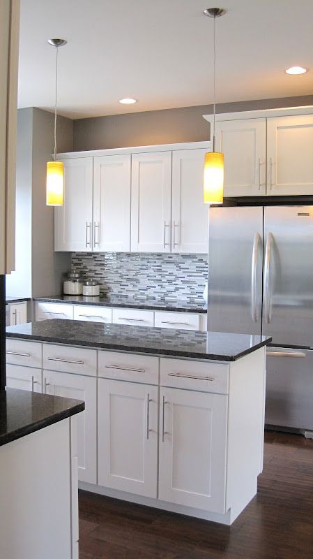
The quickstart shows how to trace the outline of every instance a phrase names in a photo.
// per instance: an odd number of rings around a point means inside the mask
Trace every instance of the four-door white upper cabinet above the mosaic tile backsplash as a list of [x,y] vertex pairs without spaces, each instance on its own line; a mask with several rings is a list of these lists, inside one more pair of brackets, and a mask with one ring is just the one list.
[[55,250],[206,253],[203,172],[208,143],[181,150],[160,147],[60,157],[65,201],[54,210]]

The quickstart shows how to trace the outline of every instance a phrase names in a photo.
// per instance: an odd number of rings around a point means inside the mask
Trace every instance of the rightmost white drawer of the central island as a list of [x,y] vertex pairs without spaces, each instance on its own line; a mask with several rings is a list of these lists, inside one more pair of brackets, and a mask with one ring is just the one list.
[[228,393],[229,365],[161,358],[160,385],[219,394]]

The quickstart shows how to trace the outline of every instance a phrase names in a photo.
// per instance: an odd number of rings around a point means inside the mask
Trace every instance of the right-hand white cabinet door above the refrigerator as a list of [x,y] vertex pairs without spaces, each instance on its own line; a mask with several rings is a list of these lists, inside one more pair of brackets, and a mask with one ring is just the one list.
[[268,118],[268,194],[313,194],[313,115]]

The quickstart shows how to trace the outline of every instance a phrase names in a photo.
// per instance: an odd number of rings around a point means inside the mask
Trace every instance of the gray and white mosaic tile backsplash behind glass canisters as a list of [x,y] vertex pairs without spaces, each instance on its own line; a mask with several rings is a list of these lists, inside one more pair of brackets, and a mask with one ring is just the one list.
[[98,279],[102,296],[204,303],[205,254],[73,252],[72,268]]

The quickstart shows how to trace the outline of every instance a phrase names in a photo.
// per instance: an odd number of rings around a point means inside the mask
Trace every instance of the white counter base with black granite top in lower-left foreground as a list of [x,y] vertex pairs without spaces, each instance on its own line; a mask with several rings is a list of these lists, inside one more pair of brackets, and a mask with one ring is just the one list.
[[78,558],[75,415],[84,402],[0,392],[0,557]]

